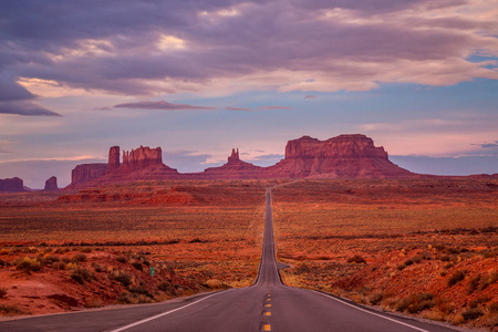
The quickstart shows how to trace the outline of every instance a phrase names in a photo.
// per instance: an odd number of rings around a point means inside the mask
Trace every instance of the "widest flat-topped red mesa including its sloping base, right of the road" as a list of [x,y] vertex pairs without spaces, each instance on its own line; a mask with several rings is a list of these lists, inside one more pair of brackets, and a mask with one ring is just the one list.
[[289,141],[286,158],[267,167],[267,177],[392,178],[413,173],[390,162],[384,148],[365,135],[340,135],[326,141],[310,136]]

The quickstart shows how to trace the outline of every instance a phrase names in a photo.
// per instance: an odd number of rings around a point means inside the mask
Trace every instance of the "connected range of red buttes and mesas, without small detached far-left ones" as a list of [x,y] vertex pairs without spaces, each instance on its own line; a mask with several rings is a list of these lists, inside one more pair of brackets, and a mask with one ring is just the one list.
[[112,146],[107,164],[77,165],[70,187],[144,179],[262,179],[262,178],[409,178],[419,177],[388,159],[382,146],[365,135],[340,135],[326,141],[310,136],[289,141],[286,157],[273,166],[243,162],[232,149],[225,165],[200,173],[178,173],[163,163],[160,147],[129,152]]

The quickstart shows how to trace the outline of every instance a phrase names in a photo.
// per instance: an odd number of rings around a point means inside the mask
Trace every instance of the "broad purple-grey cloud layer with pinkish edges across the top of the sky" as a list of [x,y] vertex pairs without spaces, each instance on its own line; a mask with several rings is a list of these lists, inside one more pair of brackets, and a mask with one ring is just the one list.
[[11,1],[0,100],[37,94],[17,77],[134,96],[497,80],[496,61],[468,61],[498,55],[497,10],[480,0]]

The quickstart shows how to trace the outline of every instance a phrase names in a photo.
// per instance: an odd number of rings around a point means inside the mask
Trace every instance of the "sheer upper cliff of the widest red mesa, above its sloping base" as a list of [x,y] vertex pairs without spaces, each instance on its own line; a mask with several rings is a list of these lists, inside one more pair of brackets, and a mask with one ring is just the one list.
[[376,147],[372,138],[361,134],[340,135],[320,141],[310,136],[289,141],[286,146],[286,159],[289,158],[384,158],[384,147]]

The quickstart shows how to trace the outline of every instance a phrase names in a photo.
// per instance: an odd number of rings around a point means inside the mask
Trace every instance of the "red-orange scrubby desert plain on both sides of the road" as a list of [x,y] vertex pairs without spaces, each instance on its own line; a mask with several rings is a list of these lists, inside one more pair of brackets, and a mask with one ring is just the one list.
[[[498,180],[148,180],[0,195],[0,314],[248,287],[274,187],[286,284],[498,326]],[[154,277],[151,277],[151,268]]]

